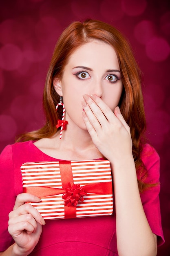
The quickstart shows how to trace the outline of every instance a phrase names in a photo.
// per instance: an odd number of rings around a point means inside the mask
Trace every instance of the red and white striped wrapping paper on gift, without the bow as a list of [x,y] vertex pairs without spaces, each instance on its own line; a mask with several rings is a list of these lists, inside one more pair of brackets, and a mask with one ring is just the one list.
[[[61,173],[62,163],[71,166],[71,175],[74,184],[85,186],[88,184],[104,183],[109,193],[96,194],[87,193],[84,202],[78,202],[77,206],[68,207],[75,209],[75,218],[90,216],[106,216],[113,213],[112,176],[110,162],[108,160],[93,161],[62,161],[62,162],[31,162],[21,166],[23,191],[26,189],[36,189],[40,186],[63,189],[62,177],[68,177],[70,173]],[[62,176],[64,175],[64,176]],[[35,193],[34,193],[35,194]],[[62,199],[63,192],[59,195],[49,195],[40,197],[41,202],[31,203],[43,216],[44,219],[74,218],[65,216],[66,206]]]

